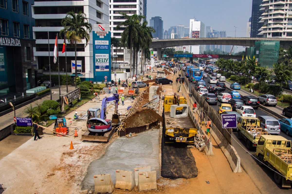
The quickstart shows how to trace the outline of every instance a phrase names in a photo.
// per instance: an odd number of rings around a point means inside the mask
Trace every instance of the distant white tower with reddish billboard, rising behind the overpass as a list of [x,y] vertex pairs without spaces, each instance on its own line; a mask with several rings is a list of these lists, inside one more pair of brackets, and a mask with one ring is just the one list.
[[[205,24],[195,19],[190,19],[190,38],[204,38]],[[205,45],[190,45],[190,52],[193,54],[204,53]]]

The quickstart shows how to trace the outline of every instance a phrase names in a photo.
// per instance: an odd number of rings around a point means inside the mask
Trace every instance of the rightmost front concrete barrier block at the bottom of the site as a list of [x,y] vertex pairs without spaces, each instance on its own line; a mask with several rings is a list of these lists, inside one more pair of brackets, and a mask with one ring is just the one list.
[[156,171],[140,172],[138,175],[139,191],[157,190]]

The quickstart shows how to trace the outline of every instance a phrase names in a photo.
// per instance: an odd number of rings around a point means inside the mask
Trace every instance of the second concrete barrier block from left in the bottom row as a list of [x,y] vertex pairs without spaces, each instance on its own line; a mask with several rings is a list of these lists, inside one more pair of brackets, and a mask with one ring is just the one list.
[[115,188],[131,191],[135,186],[135,177],[132,171],[116,170]]

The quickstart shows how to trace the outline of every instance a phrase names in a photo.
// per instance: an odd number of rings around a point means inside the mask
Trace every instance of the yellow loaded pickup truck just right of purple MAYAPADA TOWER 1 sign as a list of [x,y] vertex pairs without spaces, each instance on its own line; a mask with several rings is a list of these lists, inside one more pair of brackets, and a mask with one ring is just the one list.
[[256,148],[261,135],[268,135],[260,120],[255,117],[240,117],[237,123],[238,139],[244,139],[248,149]]

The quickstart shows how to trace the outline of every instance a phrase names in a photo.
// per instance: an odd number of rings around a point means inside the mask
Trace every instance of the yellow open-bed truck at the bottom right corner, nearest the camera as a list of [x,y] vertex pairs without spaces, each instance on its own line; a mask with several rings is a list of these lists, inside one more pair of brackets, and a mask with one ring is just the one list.
[[266,164],[274,172],[274,181],[282,187],[291,188],[292,149],[291,140],[282,136],[262,135],[256,147],[260,166]]

